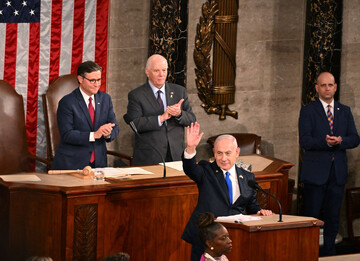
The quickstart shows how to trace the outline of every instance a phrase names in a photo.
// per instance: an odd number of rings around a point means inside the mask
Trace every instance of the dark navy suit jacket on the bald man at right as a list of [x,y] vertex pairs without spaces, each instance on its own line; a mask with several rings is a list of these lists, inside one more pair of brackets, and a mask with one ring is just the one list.
[[319,99],[304,106],[299,117],[300,146],[305,150],[300,181],[316,185],[325,184],[330,174],[332,157],[336,181],[344,185],[347,180],[346,149],[359,144],[354,118],[348,106],[334,103],[333,136],[341,136],[340,145],[330,147],[326,143],[326,134],[330,134],[329,123]]

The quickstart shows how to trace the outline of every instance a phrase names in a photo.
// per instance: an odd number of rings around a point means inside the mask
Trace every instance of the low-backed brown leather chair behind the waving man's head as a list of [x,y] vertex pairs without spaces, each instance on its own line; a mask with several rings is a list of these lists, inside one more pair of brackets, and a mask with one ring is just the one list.
[[[230,134],[236,138],[240,147],[240,155],[244,154],[261,154],[261,136],[253,133],[224,133]],[[215,139],[222,134],[208,138],[207,143],[214,147]]]

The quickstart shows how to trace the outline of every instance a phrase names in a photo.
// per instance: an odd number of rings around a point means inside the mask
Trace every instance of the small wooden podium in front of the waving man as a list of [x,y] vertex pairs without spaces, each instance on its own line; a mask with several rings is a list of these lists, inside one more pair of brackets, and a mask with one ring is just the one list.
[[323,221],[312,217],[283,215],[262,217],[242,223],[221,222],[233,242],[229,260],[236,261],[317,261],[319,233]]

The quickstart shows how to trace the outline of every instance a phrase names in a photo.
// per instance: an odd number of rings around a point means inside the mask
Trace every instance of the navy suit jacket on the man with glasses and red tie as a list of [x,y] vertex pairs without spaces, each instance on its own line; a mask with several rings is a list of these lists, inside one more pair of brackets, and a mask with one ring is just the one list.
[[[106,167],[106,142],[119,134],[113,104],[108,94],[95,94],[95,127],[93,127],[88,107],[79,88],[64,96],[57,110],[60,144],[56,149],[51,169],[82,169],[89,165],[91,153],[95,149],[95,167]],[[90,132],[101,125],[115,123],[110,138],[104,137],[89,142]]]

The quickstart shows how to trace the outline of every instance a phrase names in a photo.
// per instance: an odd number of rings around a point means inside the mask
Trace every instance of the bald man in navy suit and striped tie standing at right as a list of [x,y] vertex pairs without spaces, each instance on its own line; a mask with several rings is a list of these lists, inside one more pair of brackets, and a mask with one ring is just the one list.
[[321,73],[315,88],[319,98],[304,106],[299,117],[299,141],[305,150],[300,181],[304,214],[325,222],[320,254],[333,255],[348,172],[346,149],[358,146],[359,136],[350,108],[334,101],[334,76]]

